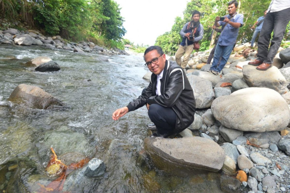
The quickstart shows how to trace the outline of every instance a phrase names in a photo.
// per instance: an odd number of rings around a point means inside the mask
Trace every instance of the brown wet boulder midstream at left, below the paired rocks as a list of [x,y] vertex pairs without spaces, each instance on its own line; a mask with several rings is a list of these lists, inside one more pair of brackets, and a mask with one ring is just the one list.
[[63,106],[63,103],[54,98],[51,94],[39,87],[27,84],[19,84],[12,91],[8,100],[17,104],[25,103],[37,109],[47,109],[52,105]]

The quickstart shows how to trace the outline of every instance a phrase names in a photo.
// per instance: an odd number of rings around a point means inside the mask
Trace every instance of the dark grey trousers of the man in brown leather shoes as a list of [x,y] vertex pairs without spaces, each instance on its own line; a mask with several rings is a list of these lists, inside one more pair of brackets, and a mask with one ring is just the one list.
[[[258,39],[258,59],[263,63],[272,64],[284,37],[286,26],[290,21],[290,8],[267,13]],[[271,39],[271,33],[274,35]]]

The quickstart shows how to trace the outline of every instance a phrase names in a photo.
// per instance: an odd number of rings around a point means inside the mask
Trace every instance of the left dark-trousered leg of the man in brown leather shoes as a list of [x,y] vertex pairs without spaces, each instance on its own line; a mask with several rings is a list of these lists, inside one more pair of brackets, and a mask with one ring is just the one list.
[[258,39],[258,60],[264,61],[268,56],[271,33],[274,29],[274,13],[267,13]]

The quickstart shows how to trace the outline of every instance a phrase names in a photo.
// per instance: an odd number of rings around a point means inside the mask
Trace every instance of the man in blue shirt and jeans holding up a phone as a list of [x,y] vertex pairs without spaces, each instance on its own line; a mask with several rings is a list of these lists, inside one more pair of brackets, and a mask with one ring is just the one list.
[[[208,72],[215,75],[220,74],[224,65],[228,61],[235,42],[238,37],[239,28],[243,26],[244,15],[236,12],[238,8],[238,2],[233,0],[228,3],[229,14],[224,17],[217,16],[215,18],[215,26],[222,26],[222,32],[218,39],[215,53],[213,56],[213,64]],[[223,20],[223,21],[222,21]],[[222,57],[220,65],[218,66],[219,58]]]

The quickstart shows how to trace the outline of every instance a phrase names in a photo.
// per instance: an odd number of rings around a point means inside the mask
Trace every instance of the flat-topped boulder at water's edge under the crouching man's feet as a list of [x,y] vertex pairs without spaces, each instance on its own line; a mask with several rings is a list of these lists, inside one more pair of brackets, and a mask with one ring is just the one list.
[[202,137],[146,138],[144,149],[157,168],[168,172],[218,172],[225,159],[217,143]]

